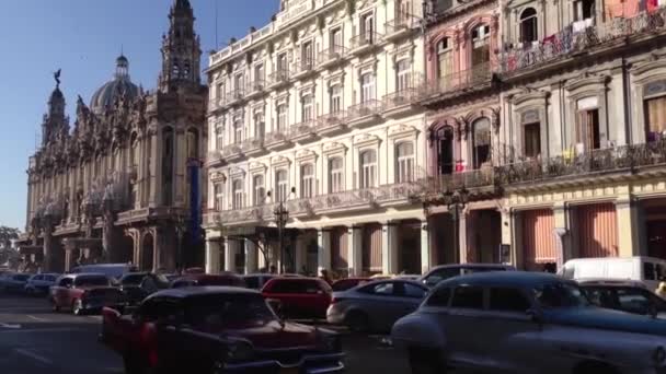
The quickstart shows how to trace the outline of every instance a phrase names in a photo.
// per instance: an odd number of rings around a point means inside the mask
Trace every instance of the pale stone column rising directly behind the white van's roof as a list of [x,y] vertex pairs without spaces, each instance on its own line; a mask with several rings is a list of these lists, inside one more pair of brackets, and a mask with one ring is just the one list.
[[640,256],[639,204],[630,195],[623,195],[616,200],[618,215],[618,256]]

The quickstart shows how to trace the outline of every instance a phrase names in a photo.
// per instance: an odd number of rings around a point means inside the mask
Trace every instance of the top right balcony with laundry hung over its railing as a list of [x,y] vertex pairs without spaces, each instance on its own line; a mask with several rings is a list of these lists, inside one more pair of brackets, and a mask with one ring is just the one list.
[[[632,17],[612,17],[594,25],[592,19],[576,21],[561,32],[529,46],[508,48],[502,52],[503,78],[531,72],[540,67],[573,62],[577,54],[594,54],[604,45],[627,46],[650,39],[666,30],[666,7],[643,11]],[[621,42],[617,43],[616,42]]]

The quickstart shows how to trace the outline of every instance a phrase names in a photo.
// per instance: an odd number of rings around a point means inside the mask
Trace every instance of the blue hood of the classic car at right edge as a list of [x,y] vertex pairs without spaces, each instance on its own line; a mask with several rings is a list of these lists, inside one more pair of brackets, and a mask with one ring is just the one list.
[[546,311],[547,323],[666,336],[666,320],[600,307],[558,308]]

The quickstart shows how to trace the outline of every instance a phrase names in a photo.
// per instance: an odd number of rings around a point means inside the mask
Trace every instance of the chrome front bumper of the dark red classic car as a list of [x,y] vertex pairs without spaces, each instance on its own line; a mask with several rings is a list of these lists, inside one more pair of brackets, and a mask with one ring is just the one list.
[[303,374],[343,373],[345,365],[342,362],[344,353],[313,354],[303,357],[298,363],[285,365],[276,360],[242,362],[223,364],[221,373],[261,373],[262,370],[296,369]]

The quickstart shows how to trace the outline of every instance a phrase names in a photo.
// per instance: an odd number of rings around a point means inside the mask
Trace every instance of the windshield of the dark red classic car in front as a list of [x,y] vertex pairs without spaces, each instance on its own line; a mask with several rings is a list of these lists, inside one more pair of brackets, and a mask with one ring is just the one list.
[[186,307],[186,319],[206,328],[243,328],[277,320],[260,294],[206,295],[194,299]]

